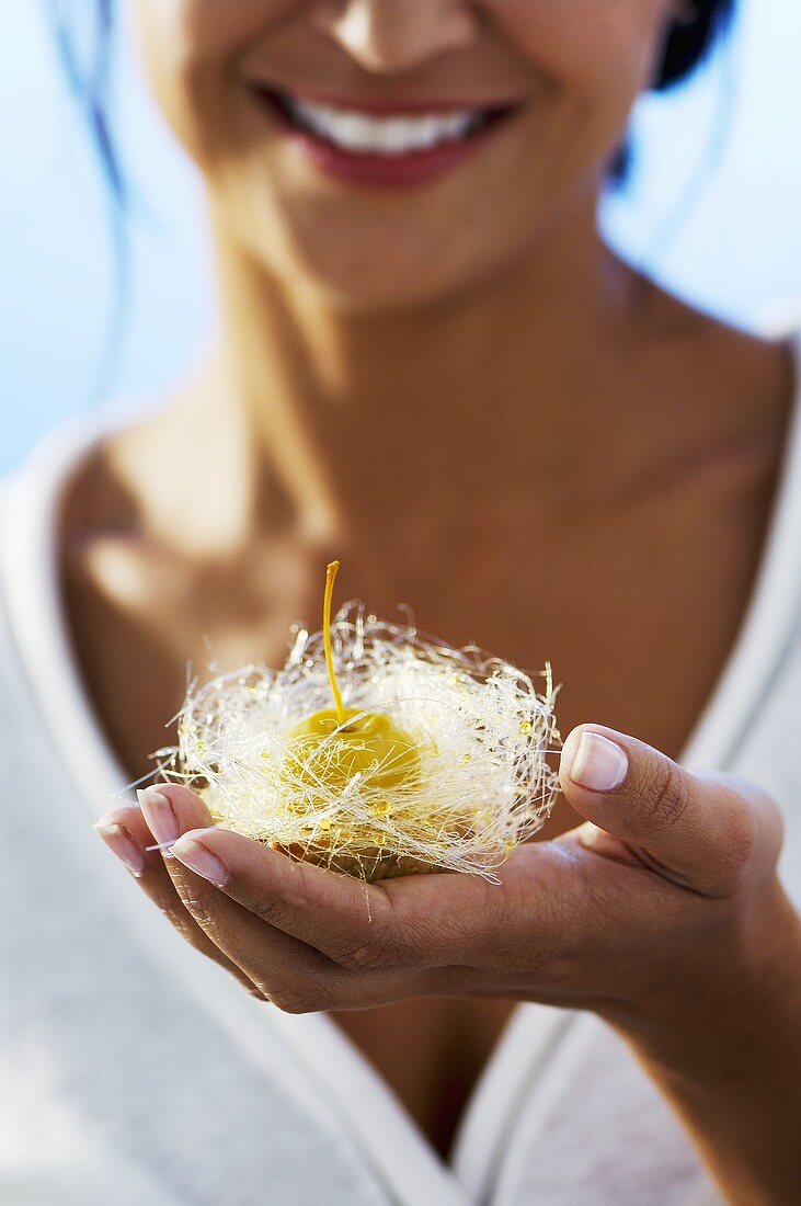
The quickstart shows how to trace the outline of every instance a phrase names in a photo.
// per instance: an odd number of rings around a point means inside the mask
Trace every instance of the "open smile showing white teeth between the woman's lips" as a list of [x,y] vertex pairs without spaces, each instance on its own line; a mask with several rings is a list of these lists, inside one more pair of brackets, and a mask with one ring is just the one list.
[[[517,104],[485,107],[430,109],[416,112],[401,106],[375,112],[343,103],[320,103],[277,89],[258,88],[259,98],[285,124],[337,151],[352,156],[381,156],[387,160],[423,156],[453,144],[469,142],[519,110]],[[383,106],[389,110],[389,106]]]

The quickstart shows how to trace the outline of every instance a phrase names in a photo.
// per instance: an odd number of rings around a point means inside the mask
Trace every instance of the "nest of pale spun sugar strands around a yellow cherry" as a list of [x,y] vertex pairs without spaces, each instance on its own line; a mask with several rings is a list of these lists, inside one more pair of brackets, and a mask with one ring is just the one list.
[[281,669],[247,666],[202,687],[159,750],[217,824],[365,880],[429,871],[494,879],[549,815],[559,743],[550,666],[531,678],[346,604],[331,648],[347,709],[330,708],[323,632],[295,627]]

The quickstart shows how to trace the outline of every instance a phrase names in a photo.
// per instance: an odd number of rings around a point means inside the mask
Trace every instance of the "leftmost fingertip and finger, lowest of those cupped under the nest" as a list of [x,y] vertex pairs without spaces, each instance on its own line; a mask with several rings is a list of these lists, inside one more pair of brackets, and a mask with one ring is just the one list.
[[142,891],[164,913],[178,933],[195,950],[213,959],[214,962],[236,976],[248,991],[255,993],[254,985],[243,976],[241,968],[214,946],[192,914],[187,912],[164,866],[160,853],[147,849],[153,843],[153,836],[140,809],[131,806],[114,808],[100,818],[95,829],[110,850],[128,866],[139,880]]

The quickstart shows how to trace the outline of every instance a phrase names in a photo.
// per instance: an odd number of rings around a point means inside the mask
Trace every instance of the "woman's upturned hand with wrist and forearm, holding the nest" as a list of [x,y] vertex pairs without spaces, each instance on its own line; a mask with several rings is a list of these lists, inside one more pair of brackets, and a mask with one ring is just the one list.
[[801,923],[776,874],[778,809],[599,725],[571,732],[560,783],[587,822],[519,847],[500,885],[364,885],[214,827],[175,784],[99,827],[181,933],[281,1009],[457,995],[595,1011],[728,1200],[795,1204]]

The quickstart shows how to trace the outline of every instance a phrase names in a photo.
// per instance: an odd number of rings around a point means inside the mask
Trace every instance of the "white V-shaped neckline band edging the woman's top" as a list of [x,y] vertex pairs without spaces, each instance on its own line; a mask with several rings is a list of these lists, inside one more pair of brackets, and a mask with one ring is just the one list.
[[[724,767],[741,740],[760,693],[781,662],[801,597],[801,335],[796,338],[796,388],[770,526],[755,584],[734,648],[679,761],[690,769]],[[0,578],[13,632],[47,727],[87,821],[102,802],[125,797],[128,775],[105,740],[78,673],[58,581],[59,494],[71,468],[107,434],[151,411],[153,404],[116,404],[61,425],[4,488]],[[172,966],[175,939],[164,926],[148,942],[164,946]],[[167,944],[169,946],[165,946]],[[558,1054],[578,1018],[570,1011],[520,1003],[512,1012],[463,1110],[452,1155],[444,1163],[389,1084],[326,1014],[289,1015],[259,1007],[235,980],[205,974],[202,960],[182,961],[202,1005],[217,1017],[237,1012],[249,1041],[267,1024],[290,1046],[307,1075],[324,1089],[331,1111],[383,1178],[399,1204],[478,1204],[489,1192],[516,1116],[532,1078]],[[212,971],[212,965],[208,965]],[[258,1005],[258,1003],[257,1003]],[[230,1028],[228,1028],[230,1029]]]

